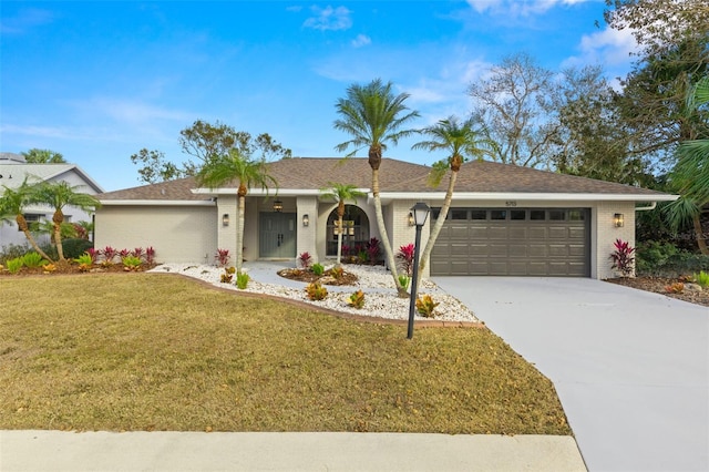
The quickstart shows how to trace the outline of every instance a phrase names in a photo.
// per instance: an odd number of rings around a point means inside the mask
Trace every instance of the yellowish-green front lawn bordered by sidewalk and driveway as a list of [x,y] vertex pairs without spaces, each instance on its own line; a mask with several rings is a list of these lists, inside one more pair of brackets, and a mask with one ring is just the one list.
[[340,319],[174,275],[0,278],[0,429],[571,434],[485,329]]

